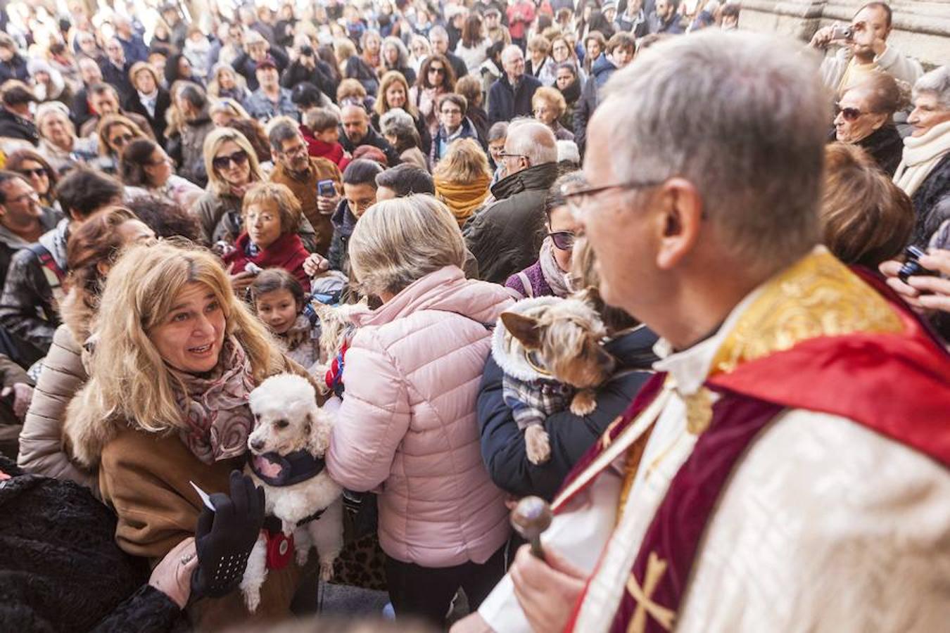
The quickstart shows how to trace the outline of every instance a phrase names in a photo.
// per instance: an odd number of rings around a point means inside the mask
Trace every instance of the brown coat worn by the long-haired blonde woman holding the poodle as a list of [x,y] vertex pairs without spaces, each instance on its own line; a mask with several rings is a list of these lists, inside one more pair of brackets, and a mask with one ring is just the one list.
[[[271,374],[306,371],[280,357]],[[308,377],[309,378],[309,377]],[[115,425],[89,419],[70,407],[66,438],[74,453],[86,462],[99,462],[99,488],[103,501],[118,516],[116,542],[124,551],[157,563],[169,549],[195,534],[201,501],[191,487],[228,493],[228,476],[243,468],[237,457],[212,465],[201,462],[181,442],[177,432],[153,434],[134,421]],[[294,564],[270,571],[261,588],[261,602],[254,615],[248,613],[240,591],[217,600],[199,599],[188,606],[196,630],[226,628],[238,622],[276,622],[290,615],[300,569]]]

